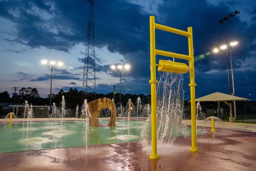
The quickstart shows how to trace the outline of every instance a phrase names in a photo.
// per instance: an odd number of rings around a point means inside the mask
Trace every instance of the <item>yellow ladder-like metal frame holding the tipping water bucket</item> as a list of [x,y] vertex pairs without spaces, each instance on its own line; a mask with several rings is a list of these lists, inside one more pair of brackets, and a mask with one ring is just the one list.
[[[156,49],[156,39],[155,39],[155,30],[163,30],[175,34],[179,34],[182,36],[188,37],[188,55],[162,51]],[[152,153],[150,155],[150,159],[159,159],[159,155],[157,154],[157,97],[156,97],[156,66],[160,66],[156,63],[156,55],[174,57],[179,59],[185,59],[189,61],[189,77],[190,83],[188,84],[190,87],[190,104],[191,104],[191,152],[198,152],[197,147],[197,126],[196,126],[196,91],[195,87],[197,84],[195,83],[195,68],[194,68],[194,49],[193,49],[193,33],[192,27],[188,27],[187,31],[178,30],[175,28],[167,27],[164,25],[160,25],[155,23],[155,16],[150,16],[150,55],[151,55],[151,111],[152,111]],[[167,66],[167,65],[166,65]],[[181,65],[176,65],[181,66]],[[160,66],[161,67],[161,66]],[[172,65],[169,65],[172,67]],[[179,68],[179,67],[178,67]],[[175,72],[184,73],[184,69],[175,68]],[[160,70],[160,69],[159,69]],[[160,70],[161,71],[161,70]],[[173,71],[170,69],[169,71]]]

